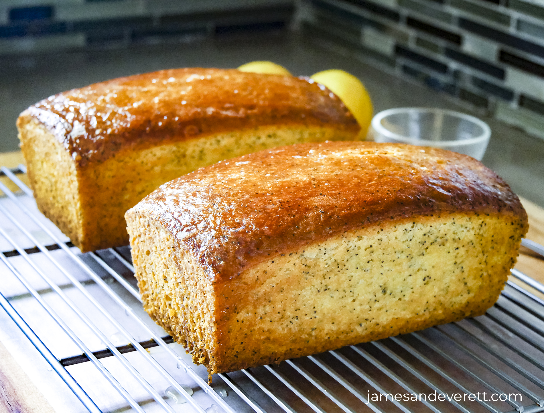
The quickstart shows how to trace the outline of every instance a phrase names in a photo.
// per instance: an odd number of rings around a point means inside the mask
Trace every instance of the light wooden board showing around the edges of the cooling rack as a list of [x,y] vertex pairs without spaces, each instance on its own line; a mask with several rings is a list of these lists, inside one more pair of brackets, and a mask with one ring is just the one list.
[[[0,165],[15,168],[20,163],[24,164],[21,151],[0,153]],[[19,174],[18,177],[28,184],[26,174]],[[18,189],[7,177],[0,179],[11,190]],[[2,195],[1,191],[0,195]],[[544,208],[527,199],[520,197],[520,200],[529,215],[527,238],[544,245]],[[544,283],[544,258],[533,251],[522,247],[515,268]],[[544,294],[529,288],[513,276],[510,276],[510,280],[544,299]],[[22,397],[23,394],[24,397]],[[53,411],[44,396],[0,342],[0,413],[50,413]]]

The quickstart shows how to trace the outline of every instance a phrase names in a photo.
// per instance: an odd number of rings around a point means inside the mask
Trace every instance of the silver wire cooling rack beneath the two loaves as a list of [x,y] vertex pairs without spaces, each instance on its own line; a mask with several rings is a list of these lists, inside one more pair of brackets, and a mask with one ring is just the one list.
[[81,254],[38,212],[20,172],[1,173],[21,191],[0,183],[0,305],[79,399],[66,411],[544,411],[544,301],[510,281],[484,316],[208,385],[142,310],[128,247]]

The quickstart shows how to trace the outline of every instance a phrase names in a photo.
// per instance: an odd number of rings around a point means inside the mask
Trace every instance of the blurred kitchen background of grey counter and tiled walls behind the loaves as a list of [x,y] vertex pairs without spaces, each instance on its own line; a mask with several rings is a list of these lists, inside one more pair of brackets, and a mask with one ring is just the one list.
[[42,98],[171,67],[271,60],[294,75],[343,69],[375,113],[477,115],[483,159],[544,206],[544,2],[529,0],[3,0],[0,152]]

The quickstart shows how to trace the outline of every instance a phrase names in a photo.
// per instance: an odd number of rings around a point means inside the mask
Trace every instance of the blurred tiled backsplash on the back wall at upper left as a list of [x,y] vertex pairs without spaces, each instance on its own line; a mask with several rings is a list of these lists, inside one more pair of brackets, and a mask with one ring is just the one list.
[[293,0],[0,0],[0,56],[287,27]]

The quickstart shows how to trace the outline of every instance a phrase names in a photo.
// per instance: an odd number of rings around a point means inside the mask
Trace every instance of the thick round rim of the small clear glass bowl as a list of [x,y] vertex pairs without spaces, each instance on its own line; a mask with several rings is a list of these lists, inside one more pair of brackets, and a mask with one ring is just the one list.
[[[444,115],[450,115],[454,118],[461,118],[465,119],[469,122],[473,122],[474,124],[477,124],[480,126],[483,130],[481,135],[471,138],[471,139],[460,139],[460,140],[424,140],[424,139],[416,139],[416,138],[410,138],[406,137],[404,135],[400,135],[398,133],[392,132],[390,130],[387,130],[384,126],[381,125],[382,119],[386,118],[390,115],[396,115],[400,113],[410,113],[410,112],[417,112],[417,113],[442,113]],[[382,110],[381,112],[377,113],[374,118],[372,118],[372,122],[370,123],[372,125],[372,128],[374,131],[378,132],[381,135],[386,136],[387,138],[396,139],[399,141],[402,141],[407,144],[412,145],[418,145],[418,146],[434,146],[434,147],[449,147],[449,146],[466,146],[466,145],[472,145],[477,144],[482,141],[485,141],[491,137],[491,128],[489,125],[486,124],[481,119],[476,118],[472,115],[467,115],[466,113],[457,112],[456,110],[449,110],[449,109],[439,109],[439,108],[419,108],[419,107],[404,107],[404,108],[392,108],[392,109],[386,109]]]

